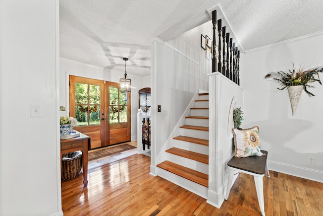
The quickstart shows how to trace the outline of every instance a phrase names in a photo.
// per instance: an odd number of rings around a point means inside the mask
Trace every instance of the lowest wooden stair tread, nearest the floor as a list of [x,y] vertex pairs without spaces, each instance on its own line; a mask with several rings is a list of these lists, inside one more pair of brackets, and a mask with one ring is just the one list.
[[204,187],[208,187],[208,175],[204,173],[183,167],[170,161],[164,161],[163,163],[158,164],[157,167],[200,184]]

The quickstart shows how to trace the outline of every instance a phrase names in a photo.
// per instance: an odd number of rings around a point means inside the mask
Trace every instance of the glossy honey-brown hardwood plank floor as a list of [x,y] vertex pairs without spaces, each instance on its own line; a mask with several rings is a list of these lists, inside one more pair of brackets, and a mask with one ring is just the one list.
[[[150,158],[133,155],[62,182],[62,208],[68,215],[261,215],[253,177],[239,174],[218,209],[205,199],[149,174]],[[323,183],[270,171],[263,178],[265,213],[323,216]]]

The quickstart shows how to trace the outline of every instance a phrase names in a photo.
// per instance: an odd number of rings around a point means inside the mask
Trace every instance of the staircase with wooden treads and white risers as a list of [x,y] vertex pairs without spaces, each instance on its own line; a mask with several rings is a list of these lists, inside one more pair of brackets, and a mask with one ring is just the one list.
[[198,95],[158,174],[204,198],[208,189],[208,93]]

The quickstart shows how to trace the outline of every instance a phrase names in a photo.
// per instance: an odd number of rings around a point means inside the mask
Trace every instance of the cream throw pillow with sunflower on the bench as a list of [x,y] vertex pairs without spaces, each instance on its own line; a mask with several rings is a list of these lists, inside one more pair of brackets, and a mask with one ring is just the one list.
[[233,128],[235,153],[237,158],[249,156],[262,156],[260,152],[259,127],[253,126],[248,129]]

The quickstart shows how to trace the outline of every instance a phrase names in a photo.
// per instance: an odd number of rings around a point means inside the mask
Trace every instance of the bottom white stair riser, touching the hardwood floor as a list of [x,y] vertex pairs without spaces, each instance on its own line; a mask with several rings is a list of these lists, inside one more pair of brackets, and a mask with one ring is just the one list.
[[204,199],[207,199],[207,193],[208,188],[197,184],[195,182],[192,182],[190,180],[187,180],[181,176],[175,175],[174,173],[168,172],[167,170],[161,169],[157,167],[158,176],[161,178],[164,178],[170,182],[173,182],[183,188],[185,188],[188,191],[191,191],[192,193],[197,194],[198,196],[203,197]]

